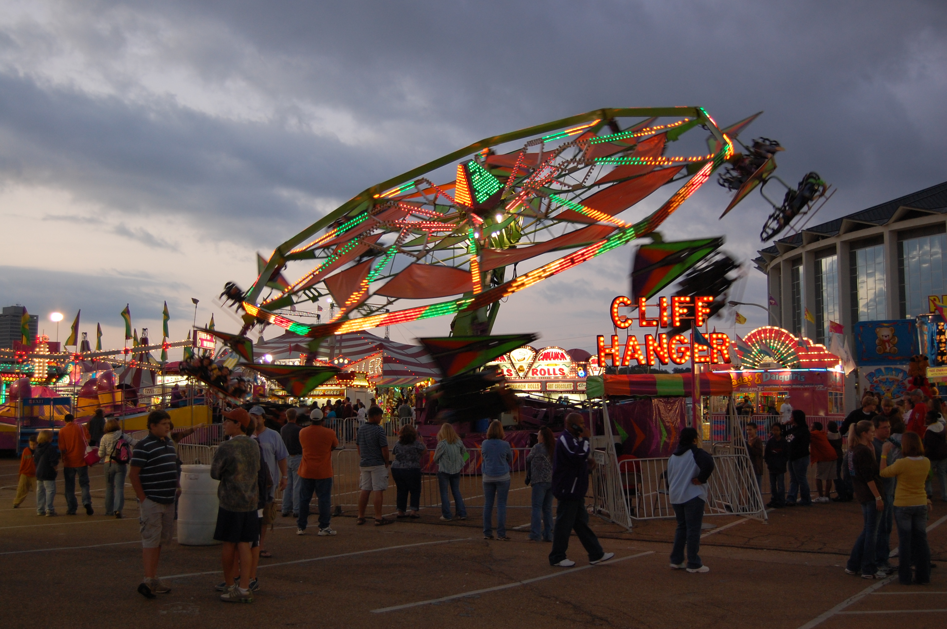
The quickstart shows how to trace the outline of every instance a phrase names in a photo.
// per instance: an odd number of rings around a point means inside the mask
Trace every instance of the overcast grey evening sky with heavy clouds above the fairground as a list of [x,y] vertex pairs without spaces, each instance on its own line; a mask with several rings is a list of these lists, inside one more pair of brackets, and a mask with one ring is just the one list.
[[[945,22],[942,2],[904,0],[3,0],[0,301],[51,336],[49,312],[65,327],[81,308],[105,347],[126,303],[152,340],[165,300],[174,339],[191,297],[199,323],[236,330],[216,296],[252,284],[255,252],[453,149],[600,107],[698,105],[722,126],[763,110],[742,139],[778,139],[788,182],[821,173],[838,193],[815,221],[836,218],[947,180]],[[718,221],[727,201],[711,180],[662,232],[725,235],[748,262],[769,206]],[[632,252],[513,295],[494,331],[592,349]],[[759,271],[740,289],[766,300]],[[742,334],[765,323],[743,314]]]

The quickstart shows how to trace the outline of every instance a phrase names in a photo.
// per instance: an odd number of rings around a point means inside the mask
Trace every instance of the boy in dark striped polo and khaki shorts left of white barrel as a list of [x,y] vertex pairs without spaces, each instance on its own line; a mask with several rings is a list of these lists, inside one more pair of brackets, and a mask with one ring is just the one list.
[[138,522],[141,524],[141,552],[145,581],[138,592],[153,599],[155,593],[167,594],[170,587],[158,577],[161,544],[174,534],[174,498],[178,492],[177,454],[171,441],[171,418],[165,411],[148,415],[147,437],[134,446],[128,478],[138,497]]

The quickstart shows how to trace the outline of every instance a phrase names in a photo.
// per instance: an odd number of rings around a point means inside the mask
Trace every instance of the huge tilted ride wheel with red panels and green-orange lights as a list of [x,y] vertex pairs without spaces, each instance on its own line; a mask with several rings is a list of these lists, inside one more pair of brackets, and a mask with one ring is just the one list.
[[[709,152],[671,154],[697,127]],[[487,138],[364,190],[222,297],[245,310],[244,334],[276,324],[318,340],[452,315],[454,335],[487,335],[501,299],[651,234],[732,156],[726,131],[700,107],[601,109]],[[619,218],[666,186],[657,209]],[[325,321],[284,316],[320,301]]]

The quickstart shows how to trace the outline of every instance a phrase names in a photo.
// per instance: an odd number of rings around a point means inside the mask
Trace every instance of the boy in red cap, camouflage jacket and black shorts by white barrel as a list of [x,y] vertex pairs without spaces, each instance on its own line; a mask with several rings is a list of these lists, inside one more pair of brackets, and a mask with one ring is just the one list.
[[[217,497],[217,528],[214,539],[223,542],[224,593],[226,603],[253,603],[250,589],[251,547],[259,543],[259,445],[250,438],[256,428],[250,413],[233,409],[223,413],[223,433],[227,441],[217,446],[210,464],[210,478],[220,480]],[[239,559],[237,577],[235,559]],[[240,582],[235,582],[235,577]]]

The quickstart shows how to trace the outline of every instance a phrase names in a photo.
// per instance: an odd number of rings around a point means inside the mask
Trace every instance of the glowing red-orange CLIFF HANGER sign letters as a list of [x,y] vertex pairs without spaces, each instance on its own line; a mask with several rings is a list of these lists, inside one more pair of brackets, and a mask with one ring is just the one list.
[[[618,296],[612,300],[612,323],[620,329],[631,327],[635,321],[640,327],[669,328],[678,327],[682,321],[693,321],[695,327],[700,327],[706,323],[710,314],[709,304],[713,300],[712,296],[691,298],[684,295],[670,299],[661,297],[657,305],[649,305],[644,297],[639,297],[635,305],[630,298]],[[618,314],[618,308],[628,306],[637,306],[637,317]],[[653,313],[652,318],[648,316],[649,308]],[[670,338],[665,333],[646,334],[644,342],[640,342],[636,336],[629,334],[622,346],[617,334],[612,335],[611,345],[606,345],[605,337],[599,335],[599,365],[604,367],[607,357],[612,358],[612,364],[616,367],[628,367],[632,360],[636,360],[639,365],[649,366],[657,363],[683,365],[691,356],[694,362],[730,362],[730,337],[724,332],[706,333],[704,337],[709,345],[695,341],[693,336],[692,332],[688,337],[675,334]]]

